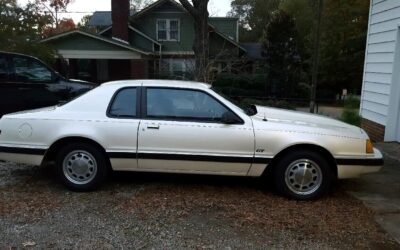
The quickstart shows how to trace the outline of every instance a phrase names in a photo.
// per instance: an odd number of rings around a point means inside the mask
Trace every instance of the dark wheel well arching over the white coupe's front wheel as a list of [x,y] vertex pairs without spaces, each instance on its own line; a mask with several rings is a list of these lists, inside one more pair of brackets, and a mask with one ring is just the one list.
[[271,161],[270,164],[268,164],[268,167],[265,169],[263,175],[272,173],[275,168],[278,165],[278,162],[285,157],[287,154],[297,151],[297,150],[309,150],[309,151],[313,151],[313,152],[318,152],[322,157],[324,157],[328,163],[329,163],[329,167],[332,169],[333,173],[335,174],[335,176],[337,177],[337,165],[336,165],[336,161],[335,158],[333,157],[333,155],[325,148],[318,146],[318,145],[313,145],[313,144],[298,144],[298,145],[294,145],[294,146],[290,146],[288,148],[285,148],[284,150],[282,150],[281,152],[279,152]]

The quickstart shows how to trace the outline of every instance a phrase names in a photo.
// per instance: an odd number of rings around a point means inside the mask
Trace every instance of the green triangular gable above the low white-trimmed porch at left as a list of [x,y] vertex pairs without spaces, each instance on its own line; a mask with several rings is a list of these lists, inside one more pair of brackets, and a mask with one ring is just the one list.
[[126,51],[126,49],[118,47],[104,41],[100,41],[81,34],[73,34],[65,37],[60,37],[55,40],[46,42],[57,50],[111,50],[111,51]]

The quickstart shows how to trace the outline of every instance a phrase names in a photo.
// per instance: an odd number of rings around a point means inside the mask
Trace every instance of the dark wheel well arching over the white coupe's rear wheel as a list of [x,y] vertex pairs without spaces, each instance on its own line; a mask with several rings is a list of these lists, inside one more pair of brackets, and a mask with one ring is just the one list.
[[[66,138],[62,138],[56,142],[54,142],[50,148],[47,150],[44,159],[43,159],[43,163],[49,163],[49,162],[53,162],[55,160],[55,157],[57,155],[57,153],[60,151],[60,149],[68,144],[73,144],[73,143],[88,143],[91,144],[95,147],[97,147],[99,150],[101,150],[103,152],[103,154],[106,156],[106,150],[103,148],[103,146],[101,146],[99,143],[97,143],[94,140],[85,138],[85,137],[66,137]],[[106,157],[107,160],[109,161],[108,157]],[[43,164],[42,163],[42,164]]]

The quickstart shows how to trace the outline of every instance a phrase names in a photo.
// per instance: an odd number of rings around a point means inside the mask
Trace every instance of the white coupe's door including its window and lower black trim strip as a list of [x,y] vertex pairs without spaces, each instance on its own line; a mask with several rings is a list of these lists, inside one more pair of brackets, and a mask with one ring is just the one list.
[[[143,89],[139,168],[246,175],[254,154],[251,121],[244,122],[203,90]],[[240,121],[224,124],[232,112]]]

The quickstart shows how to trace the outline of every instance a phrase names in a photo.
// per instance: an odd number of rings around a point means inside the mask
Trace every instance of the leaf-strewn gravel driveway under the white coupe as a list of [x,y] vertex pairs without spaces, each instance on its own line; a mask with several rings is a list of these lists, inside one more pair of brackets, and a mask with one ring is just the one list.
[[49,168],[0,162],[0,249],[399,249],[342,184],[296,202],[257,179],[131,173],[73,193]]

